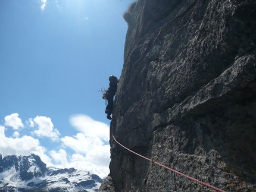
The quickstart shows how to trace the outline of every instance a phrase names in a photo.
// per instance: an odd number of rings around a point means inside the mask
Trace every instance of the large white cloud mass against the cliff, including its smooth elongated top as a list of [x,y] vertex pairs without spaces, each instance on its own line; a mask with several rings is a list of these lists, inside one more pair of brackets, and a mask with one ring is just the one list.
[[73,167],[106,177],[110,172],[110,144],[106,142],[109,140],[108,125],[82,114],[71,116],[70,123],[82,133],[61,138],[63,147],[73,149],[75,153],[67,160],[64,149],[52,151],[52,158],[60,163],[55,166],[64,165],[65,168]]

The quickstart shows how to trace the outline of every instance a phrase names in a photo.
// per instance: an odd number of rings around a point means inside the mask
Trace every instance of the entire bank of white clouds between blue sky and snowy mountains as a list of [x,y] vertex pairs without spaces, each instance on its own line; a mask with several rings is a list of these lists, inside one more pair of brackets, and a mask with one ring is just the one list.
[[[79,133],[60,138],[61,130],[54,128],[51,118],[36,116],[22,123],[17,113],[7,115],[4,125],[0,125],[0,153],[7,155],[40,156],[47,166],[56,168],[75,168],[90,171],[99,177],[109,174],[110,163],[109,127],[95,121],[87,115],[70,117],[70,125]],[[11,128],[11,130],[8,130]],[[23,132],[31,130],[30,135]],[[10,136],[5,133],[8,130]],[[43,139],[43,140],[42,140]],[[52,142],[52,148],[46,149],[43,142]]]

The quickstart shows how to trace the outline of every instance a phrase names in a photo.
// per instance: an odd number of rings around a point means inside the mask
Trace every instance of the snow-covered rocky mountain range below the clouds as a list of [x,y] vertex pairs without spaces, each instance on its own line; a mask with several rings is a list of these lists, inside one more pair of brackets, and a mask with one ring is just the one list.
[[74,168],[46,168],[37,155],[5,156],[0,154],[0,191],[26,192],[95,192],[103,180],[88,171]]

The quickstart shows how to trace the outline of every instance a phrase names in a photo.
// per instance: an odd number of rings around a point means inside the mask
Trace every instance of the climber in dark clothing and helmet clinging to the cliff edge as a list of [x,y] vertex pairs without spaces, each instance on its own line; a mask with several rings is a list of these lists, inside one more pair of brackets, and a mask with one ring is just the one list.
[[114,96],[115,96],[115,92],[117,92],[118,78],[115,77],[114,75],[110,75],[108,80],[110,80],[110,87],[108,87],[108,89],[105,91],[102,98],[107,99],[108,101],[105,114],[107,114],[107,118],[111,120],[112,118],[110,115],[112,114],[112,111],[113,111]]

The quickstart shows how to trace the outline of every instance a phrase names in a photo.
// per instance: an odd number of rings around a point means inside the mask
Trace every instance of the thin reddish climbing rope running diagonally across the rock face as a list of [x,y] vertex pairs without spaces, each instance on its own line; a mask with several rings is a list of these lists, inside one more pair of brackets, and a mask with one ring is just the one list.
[[115,139],[114,136],[113,136],[113,139],[114,139],[115,142],[117,142],[121,147],[123,147],[124,149],[129,150],[129,152],[132,152],[132,153],[134,153],[135,155],[140,156],[141,158],[144,158],[144,159],[146,159],[146,160],[149,160],[149,161],[151,161],[152,163],[155,163],[155,164],[157,164],[157,165],[160,165],[160,166],[162,166],[163,168],[166,168],[166,169],[168,169],[168,170],[170,170],[170,171],[172,171],[172,172],[175,172],[176,174],[182,175],[183,177],[186,177],[186,178],[188,178],[189,180],[192,180],[192,181],[198,182],[199,184],[202,184],[202,185],[205,185],[205,186],[207,186],[207,187],[213,188],[213,189],[216,190],[216,191],[226,192],[226,191],[223,191],[223,190],[221,190],[221,189],[219,189],[219,188],[217,188],[217,187],[214,187],[213,185],[210,185],[210,184],[207,184],[207,183],[205,183],[205,182],[196,180],[195,178],[192,178],[192,177],[189,177],[188,175],[182,174],[182,173],[179,172],[179,171],[175,171],[174,169],[168,168],[167,166],[162,165],[161,163],[158,163],[158,162],[156,162],[155,160],[153,161],[153,160],[151,160],[151,159],[149,159],[149,158],[146,158],[145,156],[139,155],[139,153],[133,152],[132,150],[128,149],[127,147],[124,147],[121,143],[119,143],[119,142]]

